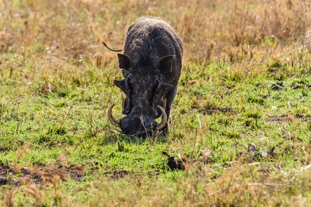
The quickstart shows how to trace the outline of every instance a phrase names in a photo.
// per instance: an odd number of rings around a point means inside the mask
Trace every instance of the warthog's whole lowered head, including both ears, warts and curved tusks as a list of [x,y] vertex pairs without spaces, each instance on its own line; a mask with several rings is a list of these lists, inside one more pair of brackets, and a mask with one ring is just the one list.
[[[146,137],[155,135],[167,123],[165,113],[165,95],[173,86],[162,81],[163,71],[170,71],[173,56],[158,59],[156,63],[148,67],[140,67],[133,64],[130,57],[118,54],[123,80],[114,80],[126,95],[122,113],[127,115],[117,121],[112,116],[112,104],[108,110],[109,121],[116,127],[120,127],[126,135]],[[156,118],[162,115],[160,123]]]

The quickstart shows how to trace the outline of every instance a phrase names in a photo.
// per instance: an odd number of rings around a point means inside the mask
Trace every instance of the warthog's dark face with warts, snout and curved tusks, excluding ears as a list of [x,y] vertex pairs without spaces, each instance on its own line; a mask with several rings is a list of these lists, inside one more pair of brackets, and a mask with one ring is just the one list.
[[[124,80],[114,81],[126,94],[122,113],[127,116],[116,121],[111,115],[112,105],[108,117],[124,134],[146,137],[155,135],[167,124],[163,107],[165,95],[173,86],[162,82],[155,74],[142,72],[144,69],[139,71],[128,73]],[[162,120],[158,124],[156,119],[161,115]]]

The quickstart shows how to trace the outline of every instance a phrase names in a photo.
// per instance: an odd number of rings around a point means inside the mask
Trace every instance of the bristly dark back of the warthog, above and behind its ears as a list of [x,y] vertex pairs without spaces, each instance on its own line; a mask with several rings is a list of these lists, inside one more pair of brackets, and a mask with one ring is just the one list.
[[183,48],[179,36],[167,22],[157,17],[141,17],[129,27],[123,52],[131,58],[132,68],[156,69],[161,58],[176,52],[179,56],[176,58],[181,61]]

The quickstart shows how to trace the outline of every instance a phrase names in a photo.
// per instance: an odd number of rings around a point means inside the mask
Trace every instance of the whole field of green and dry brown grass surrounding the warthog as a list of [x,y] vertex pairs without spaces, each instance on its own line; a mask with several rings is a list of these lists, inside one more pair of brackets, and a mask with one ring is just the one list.
[[[150,15],[183,69],[170,134],[130,138],[98,37]],[[310,51],[309,0],[0,0],[0,207],[311,206]]]

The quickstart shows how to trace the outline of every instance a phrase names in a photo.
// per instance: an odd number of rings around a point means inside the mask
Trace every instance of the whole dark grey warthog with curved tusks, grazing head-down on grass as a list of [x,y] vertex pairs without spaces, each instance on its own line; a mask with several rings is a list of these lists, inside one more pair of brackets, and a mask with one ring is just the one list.
[[[166,136],[182,56],[181,39],[162,19],[141,17],[132,23],[123,54],[118,54],[125,79],[114,80],[114,84],[126,94],[122,111],[126,116],[117,121],[112,116],[112,104],[107,114],[109,121],[126,135],[144,138],[162,133]],[[155,119],[161,114],[161,122],[157,123]]]

